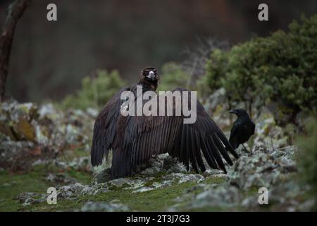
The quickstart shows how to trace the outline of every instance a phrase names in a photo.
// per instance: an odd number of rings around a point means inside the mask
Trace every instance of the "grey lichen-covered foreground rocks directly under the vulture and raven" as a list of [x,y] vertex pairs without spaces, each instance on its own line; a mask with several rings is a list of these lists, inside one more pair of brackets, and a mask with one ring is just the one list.
[[[152,158],[133,177],[109,180],[105,169],[95,174],[90,184],[67,174],[50,173],[45,180],[56,185],[58,207],[47,204],[46,193],[23,192],[17,200],[20,210],[133,211],[158,207],[167,211],[306,211],[314,202],[303,199],[309,188],[299,186],[294,179],[297,168],[292,156],[296,150],[294,146],[274,150],[259,146],[251,153],[241,153],[228,174],[216,169],[202,174],[187,172],[168,154]],[[259,204],[261,187],[268,189],[268,205]]]

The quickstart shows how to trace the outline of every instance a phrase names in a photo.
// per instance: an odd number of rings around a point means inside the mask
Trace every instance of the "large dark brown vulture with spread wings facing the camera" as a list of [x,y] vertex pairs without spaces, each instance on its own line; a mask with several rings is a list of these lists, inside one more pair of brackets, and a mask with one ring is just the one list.
[[[137,85],[142,86],[142,92],[155,91],[158,81],[156,69],[149,67],[142,70]],[[99,113],[94,123],[92,139],[93,166],[101,165],[104,156],[108,157],[109,150],[112,150],[111,177],[125,177],[132,173],[136,165],[141,165],[152,155],[169,153],[183,162],[187,170],[190,162],[196,172],[199,172],[198,167],[204,172],[206,168],[202,153],[210,167],[220,168],[226,172],[221,155],[230,165],[232,160],[225,150],[229,150],[235,157],[238,155],[198,101],[197,119],[193,124],[183,123],[186,118],[183,112],[180,116],[120,114],[120,108],[125,101],[121,100],[121,94],[124,91],[132,91],[136,94],[137,85],[118,91]],[[182,94],[187,90],[175,88],[171,92],[175,93],[175,91]],[[144,100],[142,101],[144,105]],[[183,99],[180,105],[184,105]],[[173,111],[175,112],[175,106]]]

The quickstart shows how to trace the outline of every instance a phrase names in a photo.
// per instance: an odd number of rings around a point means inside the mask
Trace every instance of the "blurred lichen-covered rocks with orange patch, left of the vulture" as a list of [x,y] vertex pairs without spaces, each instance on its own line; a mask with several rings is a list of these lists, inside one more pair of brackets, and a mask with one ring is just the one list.
[[[10,168],[27,169],[37,160],[53,160],[58,152],[68,148],[82,147],[89,151],[94,109],[70,110],[65,114],[52,104],[37,106],[7,101],[0,103],[0,113],[0,165],[4,168],[17,163],[19,167]],[[74,166],[90,167],[87,159],[73,162]]]

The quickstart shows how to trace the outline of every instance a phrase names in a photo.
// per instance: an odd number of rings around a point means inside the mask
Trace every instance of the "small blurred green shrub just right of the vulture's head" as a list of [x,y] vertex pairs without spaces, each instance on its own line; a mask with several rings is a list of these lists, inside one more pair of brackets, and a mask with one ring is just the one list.
[[178,86],[189,88],[189,75],[174,62],[163,64],[159,78],[159,91],[173,90]]

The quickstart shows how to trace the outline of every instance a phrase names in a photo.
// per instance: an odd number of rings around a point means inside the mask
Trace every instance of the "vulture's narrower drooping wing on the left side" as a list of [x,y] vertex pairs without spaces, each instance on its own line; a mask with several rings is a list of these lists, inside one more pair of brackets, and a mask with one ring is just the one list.
[[118,91],[109,100],[99,113],[94,123],[94,135],[92,137],[91,160],[92,165],[101,165],[104,155],[108,157],[109,149],[113,148],[116,136],[116,121],[120,115],[122,100],[120,95],[123,91],[130,90],[125,87]]

